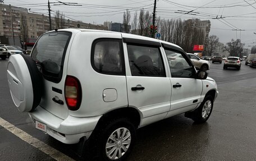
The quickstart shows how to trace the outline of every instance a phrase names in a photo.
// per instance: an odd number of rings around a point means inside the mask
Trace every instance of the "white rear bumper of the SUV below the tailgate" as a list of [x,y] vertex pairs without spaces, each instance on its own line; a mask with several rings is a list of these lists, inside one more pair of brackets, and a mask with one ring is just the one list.
[[84,136],[88,139],[101,117],[68,116],[66,119],[61,119],[40,106],[30,112],[29,116],[33,122],[46,124],[46,133],[66,144],[75,144]]

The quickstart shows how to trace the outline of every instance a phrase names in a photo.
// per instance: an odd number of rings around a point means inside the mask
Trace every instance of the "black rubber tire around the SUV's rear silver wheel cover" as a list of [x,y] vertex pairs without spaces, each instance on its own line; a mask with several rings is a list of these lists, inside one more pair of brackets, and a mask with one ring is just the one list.
[[[117,134],[117,133],[115,133],[115,131],[117,131],[119,128],[121,128],[121,130],[120,130],[121,132],[125,131],[124,128],[130,132],[130,139],[128,139],[130,141],[130,145],[128,147],[126,146],[127,151],[124,151],[121,148],[121,147],[124,147],[124,145],[125,145],[125,144],[122,144],[121,141],[118,141],[115,143],[114,141],[109,139],[109,137],[112,134],[113,134],[113,136],[116,137],[115,134]],[[129,135],[127,135],[127,136],[129,136]],[[117,118],[117,119],[109,120],[109,121],[103,123],[103,125],[99,125],[97,127],[97,129],[94,130],[92,136],[90,137],[89,147],[88,147],[89,151],[90,151],[89,159],[90,160],[100,160],[100,161],[101,160],[107,160],[107,161],[109,161],[109,160],[124,160],[131,152],[132,146],[134,146],[134,144],[135,144],[135,140],[136,140],[136,130],[135,130],[134,125],[131,123],[131,121],[128,118]],[[115,147],[112,146],[113,149],[115,148],[116,150],[112,151],[112,153],[110,153],[110,154],[113,154],[113,153],[115,154],[115,152],[117,151],[117,155],[118,155],[118,150],[117,150],[118,147],[117,146],[119,146],[119,149],[121,149],[124,154],[122,154],[122,156],[120,158],[116,158],[116,159],[108,158],[107,150],[111,151],[112,147],[106,148],[107,142],[116,144]]]

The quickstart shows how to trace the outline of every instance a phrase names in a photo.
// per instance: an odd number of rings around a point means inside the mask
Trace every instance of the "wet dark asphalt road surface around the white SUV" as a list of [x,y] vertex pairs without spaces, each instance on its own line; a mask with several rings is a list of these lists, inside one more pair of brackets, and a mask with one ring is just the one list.
[[[184,114],[137,131],[138,139],[127,160],[255,160],[256,68],[223,70],[211,64],[208,75],[220,92],[204,124],[194,124]],[[0,60],[0,117],[68,157],[80,160],[77,145],[66,145],[36,130],[27,113],[12,103],[6,77],[7,60]],[[54,160],[0,126],[0,160]]]

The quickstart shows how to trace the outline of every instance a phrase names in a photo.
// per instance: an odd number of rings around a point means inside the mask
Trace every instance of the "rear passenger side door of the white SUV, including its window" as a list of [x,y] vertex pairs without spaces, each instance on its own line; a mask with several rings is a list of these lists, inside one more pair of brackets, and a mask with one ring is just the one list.
[[143,114],[141,125],[165,118],[172,89],[159,49],[161,44],[127,38],[124,42],[129,106]]

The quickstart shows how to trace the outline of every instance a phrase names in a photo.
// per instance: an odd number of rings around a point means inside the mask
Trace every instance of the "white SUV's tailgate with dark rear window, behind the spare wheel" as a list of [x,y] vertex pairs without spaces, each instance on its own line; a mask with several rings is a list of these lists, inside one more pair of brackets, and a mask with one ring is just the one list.
[[64,85],[71,37],[72,33],[67,31],[44,34],[31,53],[43,75],[44,90],[40,106],[63,119],[68,116]]

